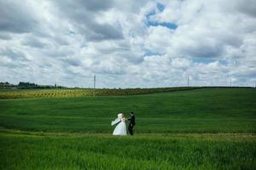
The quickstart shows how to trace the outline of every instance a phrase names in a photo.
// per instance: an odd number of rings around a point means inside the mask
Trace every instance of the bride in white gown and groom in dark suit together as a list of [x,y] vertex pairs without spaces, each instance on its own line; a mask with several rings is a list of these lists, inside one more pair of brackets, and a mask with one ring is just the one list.
[[125,118],[125,115],[123,113],[118,114],[118,118],[116,118],[114,121],[111,122],[111,125],[115,125],[118,123],[118,125],[113,130],[113,135],[126,135],[126,121],[130,121],[129,123],[129,133],[133,135],[133,127],[135,125],[135,116],[133,111],[131,111],[130,117],[128,119]]

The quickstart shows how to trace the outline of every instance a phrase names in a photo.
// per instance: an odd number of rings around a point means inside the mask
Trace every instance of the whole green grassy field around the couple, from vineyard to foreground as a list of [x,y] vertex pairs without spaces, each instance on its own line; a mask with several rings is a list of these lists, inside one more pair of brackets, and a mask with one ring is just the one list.
[[[253,88],[0,99],[0,168],[255,169],[255,104]],[[135,136],[111,135],[120,111]]]

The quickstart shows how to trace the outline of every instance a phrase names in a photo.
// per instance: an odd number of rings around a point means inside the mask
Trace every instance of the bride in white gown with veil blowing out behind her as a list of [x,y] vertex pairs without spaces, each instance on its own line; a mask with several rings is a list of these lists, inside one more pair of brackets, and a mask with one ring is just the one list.
[[126,135],[126,124],[125,124],[126,118],[123,113],[118,114],[118,118],[116,118],[114,121],[111,122],[111,125],[113,126],[116,123],[119,123],[113,130],[113,135]]

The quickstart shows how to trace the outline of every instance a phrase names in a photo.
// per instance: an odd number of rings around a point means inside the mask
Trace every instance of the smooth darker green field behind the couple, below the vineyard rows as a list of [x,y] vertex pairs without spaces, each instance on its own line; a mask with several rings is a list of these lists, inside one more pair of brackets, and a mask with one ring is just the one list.
[[256,90],[211,88],[166,94],[1,99],[0,126],[25,131],[111,133],[135,111],[136,133],[255,133]]

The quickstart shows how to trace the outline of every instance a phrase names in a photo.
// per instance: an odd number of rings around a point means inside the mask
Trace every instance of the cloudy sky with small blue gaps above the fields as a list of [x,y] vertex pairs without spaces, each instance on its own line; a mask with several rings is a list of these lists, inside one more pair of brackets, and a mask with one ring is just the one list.
[[0,0],[0,82],[251,86],[255,0]]

